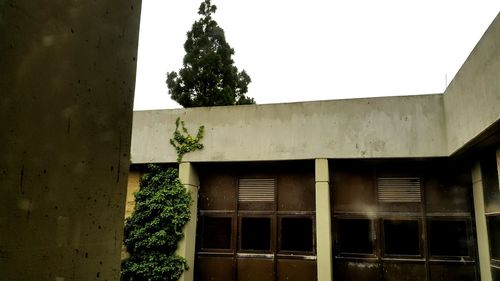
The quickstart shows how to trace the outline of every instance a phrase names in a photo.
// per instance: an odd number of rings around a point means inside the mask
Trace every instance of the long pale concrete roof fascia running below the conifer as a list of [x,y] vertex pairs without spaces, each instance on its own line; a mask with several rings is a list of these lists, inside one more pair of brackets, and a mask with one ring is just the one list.
[[136,111],[133,163],[176,161],[177,117],[205,125],[191,162],[447,155],[442,95],[423,95]]

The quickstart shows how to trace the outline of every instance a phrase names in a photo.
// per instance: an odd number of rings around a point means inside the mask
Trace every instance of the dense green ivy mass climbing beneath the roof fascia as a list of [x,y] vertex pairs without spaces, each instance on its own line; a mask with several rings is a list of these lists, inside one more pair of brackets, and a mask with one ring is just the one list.
[[134,213],[125,222],[124,243],[130,257],[122,263],[121,280],[178,280],[187,263],[175,251],[192,201],[178,171],[148,165],[135,200]]

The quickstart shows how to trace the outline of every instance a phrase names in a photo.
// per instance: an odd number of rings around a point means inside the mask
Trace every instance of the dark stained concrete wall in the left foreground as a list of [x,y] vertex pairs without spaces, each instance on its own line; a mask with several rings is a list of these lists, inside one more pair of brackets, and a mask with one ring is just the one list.
[[119,280],[139,16],[0,0],[1,280]]

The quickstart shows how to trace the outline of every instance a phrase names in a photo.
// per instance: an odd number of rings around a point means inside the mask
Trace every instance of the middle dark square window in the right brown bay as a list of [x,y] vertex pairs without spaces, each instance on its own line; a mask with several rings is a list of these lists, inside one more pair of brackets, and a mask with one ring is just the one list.
[[417,220],[384,220],[386,255],[420,255],[420,231]]

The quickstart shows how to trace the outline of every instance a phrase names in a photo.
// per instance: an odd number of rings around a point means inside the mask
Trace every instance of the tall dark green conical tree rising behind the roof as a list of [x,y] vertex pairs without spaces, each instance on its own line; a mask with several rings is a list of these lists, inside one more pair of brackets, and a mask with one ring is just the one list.
[[183,107],[253,104],[245,96],[250,76],[233,65],[234,50],[226,42],[224,30],[212,19],[217,7],[205,0],[184,43],[183,68],[167,74],[172,99]]

